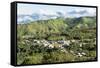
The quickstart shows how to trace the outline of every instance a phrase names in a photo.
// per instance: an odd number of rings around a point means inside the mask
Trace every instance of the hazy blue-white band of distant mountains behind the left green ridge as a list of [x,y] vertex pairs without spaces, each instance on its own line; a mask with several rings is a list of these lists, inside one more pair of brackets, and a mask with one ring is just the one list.
[[56,14],[33,13],[32,15],[18,15],[17,22],[18,24],[21,24],[21,23],[29,23],[31,21],[37,21],[37,20],[56,19],[58,17],[64,17],[64,14],[61,12],[56,12]]

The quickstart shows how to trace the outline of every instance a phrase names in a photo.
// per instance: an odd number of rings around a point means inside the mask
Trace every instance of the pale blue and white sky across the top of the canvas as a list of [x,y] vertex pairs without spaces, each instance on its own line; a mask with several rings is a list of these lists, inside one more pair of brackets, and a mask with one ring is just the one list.
[[64,17],[95,16],[96,8],[26,3],[17,4],[18,15],[32,15],[34,13],[57,15],[59,12],[62,13]]

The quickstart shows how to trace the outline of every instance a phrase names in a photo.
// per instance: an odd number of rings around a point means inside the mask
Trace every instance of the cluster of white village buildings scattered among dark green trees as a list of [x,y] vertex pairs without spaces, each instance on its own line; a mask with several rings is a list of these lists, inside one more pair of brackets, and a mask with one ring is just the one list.
[[[62,52],[64,53],[68,53],[68,51],[66,50],[68,47],[72,46],[72,43],[74,44],[79,44],[79,48],[82,48],[84,45],[87,45],[88,42],[92,42],[92,44],[96,44],[96,38],[94,39],[84,39],[86,42],[82,42],[80,40],[58,40],[58,41],[52,41],[52,40],[36,40],[34,39],[32,44],[34,45],[38,45],[38,46],[43,46],[43,47],[47,47],[49,49],[53,49],[53,48],[58,48],[60,49]],[[29,40],[26,40],[26,43],[30,42]],[[75,53],[73,50],[70,50],[70,53],[73,54],[74,56],[77,57],[82,57],[82,56],[86,56],[85,52],[77,52]]]

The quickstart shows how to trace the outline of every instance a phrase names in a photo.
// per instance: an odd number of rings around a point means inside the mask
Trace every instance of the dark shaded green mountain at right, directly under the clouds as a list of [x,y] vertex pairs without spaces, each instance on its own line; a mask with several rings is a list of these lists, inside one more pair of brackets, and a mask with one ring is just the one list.
[[66,24],[70,27],[77,27],[77,28],[92,28],[96,26],[96,17],[79,17],[79,18],[66,18]]

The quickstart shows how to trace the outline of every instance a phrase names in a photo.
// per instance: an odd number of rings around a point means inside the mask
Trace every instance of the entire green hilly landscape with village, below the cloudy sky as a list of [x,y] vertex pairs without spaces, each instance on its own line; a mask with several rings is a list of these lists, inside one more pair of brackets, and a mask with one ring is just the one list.
[[17,26],[17,64],[96,60],[96,18],[57,18]]

